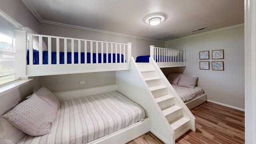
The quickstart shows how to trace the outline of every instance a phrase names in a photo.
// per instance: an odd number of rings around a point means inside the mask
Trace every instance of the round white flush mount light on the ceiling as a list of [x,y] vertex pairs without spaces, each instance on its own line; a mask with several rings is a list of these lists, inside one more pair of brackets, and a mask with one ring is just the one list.
[[161,22],[163,22],[164,20],[166,20],[166,15],[163,13],[153,13],[153,14],[149,14],[148,16],[146,16],[144,18],[144,22],[146,22],[147,24],[150,24],[152,26],[156,26],[158,24],[160,24]]

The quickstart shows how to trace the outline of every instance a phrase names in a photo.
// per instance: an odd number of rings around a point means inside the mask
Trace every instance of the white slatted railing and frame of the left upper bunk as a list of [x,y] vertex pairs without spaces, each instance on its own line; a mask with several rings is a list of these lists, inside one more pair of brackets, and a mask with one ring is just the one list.
[[[29,38],[28,38],[29,37]],[[33,64],[33,44],[32,39],[37,37],[39,39],[39,64]],[[42,42],[43,38],[47,39],[48,43],[48,64],[43,64],[42,58]],[[52,43],[52,39],[55,39],[56,44]],[[60,39],[64,40],[64,44],[60,43]],[[29,42],[28,42],[29,40]],[[72,52],[72,64],[67,64],[67,52],[68,52],[68,42],[71,41],[71,52]],[[74,43],[78,42],[78,64],[74,64]],[[84,47],[81,47],[81,44]],[[89,45],[90,44],[90,45]],[[52,45],[56,45],[56,61],[57,64],[51,64],[51,52]],[[47,36],[40,34],[28,34],[25,30],[16,30],[16,77],[26,77],[26,76],[44,76],[44,75],[56,75],[56,74],[74,74],[74,73],[84,73],[84,72],[102,72],[102,71],[116,71],[116,70],[127,70],[128,62],[131,57],[131,47],[132,43],[116,43],[116,42],[102,42],[96,40],[84,40],[78,38],[66,38],[59,36]],[[29,48],[29,65],[27,65],[27,48]],[[64,64],[60,64],[59,52],[61,49],[64,50]],[[81,64],[80,54],[85,52],[85,64]],[[96,53],[96,63],[87,64],[86,52],[90,52],[90,62],[92,62],[92,53]],[[99,63],[98,53],[111,54],[110,63]],[[113,63],[112,54],[115,53],[117,62],[117,53],[124,55],[124,62]],[[102,60],[103,60],[103,54]],[[108,56],[106,57],[108,62]]]

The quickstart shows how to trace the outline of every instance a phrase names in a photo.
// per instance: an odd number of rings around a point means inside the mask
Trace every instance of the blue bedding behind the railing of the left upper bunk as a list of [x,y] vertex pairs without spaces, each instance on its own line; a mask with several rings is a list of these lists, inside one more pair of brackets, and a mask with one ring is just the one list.
[[[52,64],[56,64],[56,52],[52,52]],[[98,53],[98,63],[102,62],[101,53]],[[116,55],[117,55],[117,63],[120,63],[120,55],[121,62],[124,62],[123,54],[114,54],[112,55],[113,63],[116,63]],[[72,55],[71,52],[67,52],[68,60],[67,63],[72,63]],[[107,54],[103,54],[103,63],[106,63]],[[81,64],[84,64],[84,52],[81,52]],[[111,62],[111,54],[108,54],[108,63]],[[74,52],[74,63],[78,64],[78,52]],[[91,53],[87,52],[87,63],[91,63]],[[96,53],[92,53],[92,63],[96,63]],[[29,64],[29,50],[27,51],[27,64]],[[39,64],[39,51],[33,50],[33,64]],[[43,51],[43,64],[48,64],[48,51]],[[64,64],[64,52],[60,52],[60,64]]]

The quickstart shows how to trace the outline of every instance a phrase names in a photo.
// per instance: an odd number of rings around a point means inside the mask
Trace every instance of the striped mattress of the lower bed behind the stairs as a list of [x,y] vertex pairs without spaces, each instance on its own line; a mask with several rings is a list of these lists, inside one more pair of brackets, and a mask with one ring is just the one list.
[[183,102],[187,102],[189,100],[192,100],[193,98],[196,98],[197,96],[204,94],[204,90],[197,86],[195,88],[187,88],[172,84],[172,87],[174,88],[174,90],[176,90]]

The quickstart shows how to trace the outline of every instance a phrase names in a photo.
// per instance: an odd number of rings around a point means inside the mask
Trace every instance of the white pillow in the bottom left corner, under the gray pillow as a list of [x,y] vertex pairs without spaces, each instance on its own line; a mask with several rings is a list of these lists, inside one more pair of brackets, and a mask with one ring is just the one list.
[[16,144],[25,135],[4,118],[0,118],[0,144]]

